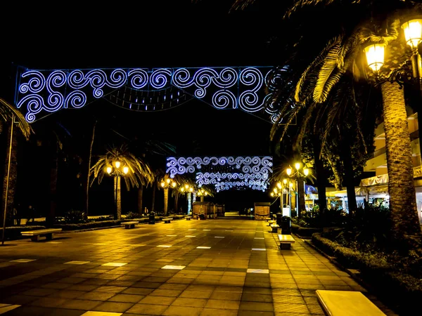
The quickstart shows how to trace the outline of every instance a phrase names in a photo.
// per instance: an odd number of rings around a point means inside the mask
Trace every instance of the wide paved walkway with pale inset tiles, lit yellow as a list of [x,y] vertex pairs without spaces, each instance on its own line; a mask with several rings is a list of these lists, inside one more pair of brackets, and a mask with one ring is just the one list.
[[0,314],[324,315],[316,289],[366,294],[302,239],[279,249],[264,221],[172,220],[42,238],[0,247]]

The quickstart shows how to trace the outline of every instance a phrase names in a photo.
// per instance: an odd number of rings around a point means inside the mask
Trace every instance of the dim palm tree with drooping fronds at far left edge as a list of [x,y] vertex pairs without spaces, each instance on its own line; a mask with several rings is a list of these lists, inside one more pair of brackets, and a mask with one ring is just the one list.
[[[8,103],[4,98],[0,98],[0,129],[3,130],[7,126],[8,147],[6,148],[6,163],[3,179],[3,193],[1,195],[4,209],[1,212],[1,219],[4,218],[6,212],[7,222],[11,223],[12,213],[7,213],[7,209],[12,209],[15,202],[15,187],[17,182],[17,160],[18,160],[18,133],[20,131],[25,140],[30,139],[33,130],[21,114],[13,105]],[[14,126],[18,126],[18,130]]]

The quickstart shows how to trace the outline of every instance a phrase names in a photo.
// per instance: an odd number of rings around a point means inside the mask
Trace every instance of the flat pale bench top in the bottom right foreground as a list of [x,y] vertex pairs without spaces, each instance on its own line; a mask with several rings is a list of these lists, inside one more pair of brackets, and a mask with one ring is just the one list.
[[359,291],[316,290],[316,296],[326,315],[331,316],[385,316]]

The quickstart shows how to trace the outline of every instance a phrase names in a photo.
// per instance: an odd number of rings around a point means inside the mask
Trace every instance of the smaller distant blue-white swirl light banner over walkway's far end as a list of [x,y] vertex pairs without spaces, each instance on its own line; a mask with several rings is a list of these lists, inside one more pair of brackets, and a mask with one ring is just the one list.
[[167,157],[166,173],[195,173],[198,187],[215,185],[217,192],[246,188],[265,192],[272,173],[272,157]]

